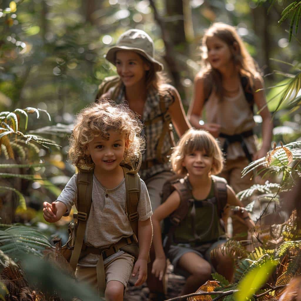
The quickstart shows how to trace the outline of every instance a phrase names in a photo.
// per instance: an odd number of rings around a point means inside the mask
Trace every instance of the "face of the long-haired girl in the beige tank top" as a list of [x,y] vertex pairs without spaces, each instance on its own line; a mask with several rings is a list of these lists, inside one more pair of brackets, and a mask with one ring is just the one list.
[[216,36],[208,37],[206,40],[208,61],[212,68],[222,69],[233,63],[233,54],[229,45]]

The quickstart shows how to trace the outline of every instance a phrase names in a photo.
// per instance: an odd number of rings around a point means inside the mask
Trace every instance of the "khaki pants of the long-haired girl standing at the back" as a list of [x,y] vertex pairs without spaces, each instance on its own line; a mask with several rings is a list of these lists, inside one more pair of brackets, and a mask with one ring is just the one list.
[[[224,169],[219,174],[220,177],[223,177],[227,180],[228,185],[231,186],[235,193],[238,193],[242,190],[250,188],[255,184],[253,172],[248,173],[243,178],[241,178],[242,170],[249,164],[249,160],[245,157],[239,157],[235,160],[227,160],[224,166]],[[251,179],[252,177],[252,179]],[[251,200],[243,200],[243,205],[247,206]],[[239,219],[237,216],[232,216],[232,236],[247,232],[247,226],[244,224],[242,219]],[[231,233],[228,233],[231,235]],[[239,237],[237,240],[247,239],[247,236]]]

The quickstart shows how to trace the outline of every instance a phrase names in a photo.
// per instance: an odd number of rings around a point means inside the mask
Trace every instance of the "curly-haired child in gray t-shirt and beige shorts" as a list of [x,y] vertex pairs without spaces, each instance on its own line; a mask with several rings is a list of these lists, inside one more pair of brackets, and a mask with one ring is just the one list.
[[[70,137],[70,160],[81,168],[94,167],[92,205],[84,239],[88,250],[108,250],[121,240],[135,242],[126,213],[125,176],[120,164],[134,162],[141,156],[144,149],[141,129],[140,120],[127,105],[117,105],[110,99],[90,104],[76,116]],[[134,265],[134,257],[120,249],[103,258],[106,300],[123,300],[131,273],[138,275],[135,285],[141,285],[147,277],[152,210],[146,185],[140,181],[141,192],[137,206],[138,259]],[[45,220],[57,222],[66,213],[68,215],[76,198],[76,175],[73,175],[55,202],[44,202]],[[89,283],[96,290],[99,288],[97,264],[100,256],[97,252],[88,253],[79,259],[76,267],[76,278]]]

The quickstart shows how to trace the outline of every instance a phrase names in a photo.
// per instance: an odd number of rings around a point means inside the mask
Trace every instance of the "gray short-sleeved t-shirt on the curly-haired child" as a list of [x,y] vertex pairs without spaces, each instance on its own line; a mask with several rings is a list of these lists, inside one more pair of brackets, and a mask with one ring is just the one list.
[[[68,213],[76,200],[76,174],[69,180],[57,201],[67,206]],[[152,215],[151,202],[146,185],[141,180],[141,193],[137,206],[139,221]],[[85,231],[85,243],[96,248],[105,248],[122,237],[129,237],[133,230],[126,212],[125,180],[113,189],[107,189],[93,175],[92,204]],[[105,260],[105,263],[124,253],[119,251]],[[88,254],[79,261],[82,266],[96,266],[99,255]]]

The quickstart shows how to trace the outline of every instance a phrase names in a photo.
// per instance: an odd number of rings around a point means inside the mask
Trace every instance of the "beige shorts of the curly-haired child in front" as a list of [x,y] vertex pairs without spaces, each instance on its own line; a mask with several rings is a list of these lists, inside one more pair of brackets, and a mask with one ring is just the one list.
[[[126,287],[132,273],[134,257],[124,253],[104,265],[106,283],[111,280],[121,282]],[[75,276],[98,291],[96,266],[77,265]]]

